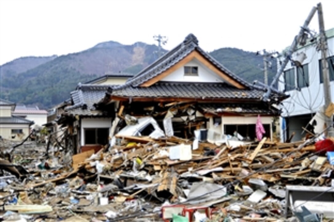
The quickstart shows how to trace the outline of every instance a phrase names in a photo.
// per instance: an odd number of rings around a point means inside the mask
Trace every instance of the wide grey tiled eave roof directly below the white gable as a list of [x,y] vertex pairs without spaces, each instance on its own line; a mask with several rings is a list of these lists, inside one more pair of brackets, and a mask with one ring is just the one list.
[[150,87],[125,87],[109,92],[119,97],[162,97],[200,99],[260,99],[264,91],[237,89],[227,83],[158,82]]

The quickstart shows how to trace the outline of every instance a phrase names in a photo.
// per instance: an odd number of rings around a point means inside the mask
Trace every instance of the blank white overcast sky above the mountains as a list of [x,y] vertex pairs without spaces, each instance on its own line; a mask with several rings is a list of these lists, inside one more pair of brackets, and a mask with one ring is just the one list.
[[[320,0],[0,0],[0,65],[22,56],[79,52],[105,41],[172,49],[193,33],[206,51],[289,46]],[[325,29],[334,27],[334,0],[322,0]],[[318,32],[317,13],[310,29]]]

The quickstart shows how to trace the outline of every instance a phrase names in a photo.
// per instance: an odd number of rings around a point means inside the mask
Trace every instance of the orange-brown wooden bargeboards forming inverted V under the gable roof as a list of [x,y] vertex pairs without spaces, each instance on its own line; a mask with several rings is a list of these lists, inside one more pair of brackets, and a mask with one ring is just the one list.
[[215,65],[213,65],[209,60],[207,60],[203,55],[201,55],[196,50],[189,53],[189,55],[184,57],[181,61],[179,61],[174,66],[170,67],[169,69],[162,72],[158,76],[144,82],[140,86],[141,87],[149,87],[149,86],[153,85],[154,83],[156,83],[156,82],[160,81],[161,79],[165,78],[166,76],[168,76],[172,72],[174,72],[177,69],[183,67],[185,64],[187,64],[188,62],[190,62],[194,58],[196,58],[199,62],[201,62],[203,65],[205,65],[208,69],[210,69],[212,72],[216,73],[218,76],[220,76],[226,82],[230,83],[231,85],[235,86],[236,88],[238,88],[238,89],[245,89],[246,88],[243,84],[239,83],[238,81],[231,78],[228,74],[226,74],[223,71],[221,71],[220,69],[218,69]]

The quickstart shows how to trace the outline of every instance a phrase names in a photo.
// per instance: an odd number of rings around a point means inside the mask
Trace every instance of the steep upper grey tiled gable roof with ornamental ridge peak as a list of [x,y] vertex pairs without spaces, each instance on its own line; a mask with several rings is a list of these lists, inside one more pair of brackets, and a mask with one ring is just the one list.
[[125,85],[119,86],[117,88],[124,88],[130,85],[134,87],[140,86],[142,83],[158,76],[162,72],[174,66],[176,63],[178,63],[180,60],[182,60],[194,50],[198,51],[202,56],[208,59],[213,65],[215,65],[222,72],[226,73],[232,79],[236,80],[237,82],[246,87],[249,86],[247,82],[233,74],[219,62],[217,62],[213,57],[211,57],[208,53],[202,50],[198,46],[198,40],[196,36],[194,36],[193,34],[189,34],[181,44],[160,57],[158,60],[146,67],[134,77],[128,79]]

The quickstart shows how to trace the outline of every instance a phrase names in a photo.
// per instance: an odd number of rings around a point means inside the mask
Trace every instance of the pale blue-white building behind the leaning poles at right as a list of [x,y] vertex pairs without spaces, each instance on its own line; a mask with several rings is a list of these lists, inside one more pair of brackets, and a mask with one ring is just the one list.
[[[326,31],[328,44],[328,66],[331,87],[331,99],[334,101],[334,28]],[[301,66],[289,62],[280,77],[279,90],[285,91],[290,97],[282,104],[281,140],[286,140],[294,132],[292,141],[305,137],[306,127],[312,117],[325,103],[321,68],[321,51],[317,50],[317,42],[307,42],[299,46],[292,55],[292,60],[304,53],[306,59]],[[285,121],[285,123],[283,123]],[[284,125],[286,126],[285,129]]]

